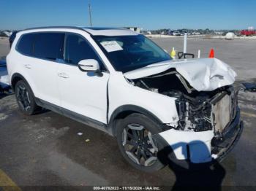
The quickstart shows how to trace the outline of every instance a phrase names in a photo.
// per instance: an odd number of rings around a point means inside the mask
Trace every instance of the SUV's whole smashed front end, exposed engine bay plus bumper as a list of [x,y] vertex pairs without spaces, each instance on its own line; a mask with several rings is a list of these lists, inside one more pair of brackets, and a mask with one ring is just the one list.
[[192,163],[220,160],[238,141],[243,125],[238,109],[239,90],[232,85],[198,91],[176,69],[129,82],[176,98],[178,122],[166,124],[170,130],[154,136],[173,149],[176,159]]

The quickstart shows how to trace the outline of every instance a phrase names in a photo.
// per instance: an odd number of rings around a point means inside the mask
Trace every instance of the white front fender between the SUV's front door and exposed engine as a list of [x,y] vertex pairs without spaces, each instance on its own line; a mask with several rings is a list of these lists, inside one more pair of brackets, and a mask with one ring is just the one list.
[[126,81],[121,72],[110,74],[109,79],[109,116],[121,106],[138,106],[141,111],[148,111],[151,115],[157,117],[161,123],[178,122],[178,113],[176,109],[176,98],[170,98],[166,95],[154,93],[135,87]]

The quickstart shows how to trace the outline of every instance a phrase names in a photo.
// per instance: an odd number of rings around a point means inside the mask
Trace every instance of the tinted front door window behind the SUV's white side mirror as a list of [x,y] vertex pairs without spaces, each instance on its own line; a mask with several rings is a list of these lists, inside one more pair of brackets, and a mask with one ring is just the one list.
[[102,61],[100,61],[96,52],[90,46],[86,39],[77,34],[67,34],[64,47],[64,61],[70,64],[77,65],[80,61],[86,59],[94,59],[99,62],[99,66],[102,67]]

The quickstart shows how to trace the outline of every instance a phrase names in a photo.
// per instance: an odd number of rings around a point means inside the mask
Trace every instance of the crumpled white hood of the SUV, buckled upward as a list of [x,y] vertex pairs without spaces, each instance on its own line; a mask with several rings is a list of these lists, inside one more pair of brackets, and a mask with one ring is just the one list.
[[211,91],[235,82],[236,72],[217,58],[184,59],[154,63],[124,73],[128,79],[138,79],[176,69],[197,91]]

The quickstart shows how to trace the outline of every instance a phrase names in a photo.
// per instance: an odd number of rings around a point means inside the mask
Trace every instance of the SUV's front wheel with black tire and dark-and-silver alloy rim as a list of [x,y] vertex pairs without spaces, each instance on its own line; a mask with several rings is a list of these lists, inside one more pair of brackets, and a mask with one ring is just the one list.
[[162,129],[143,114],[130,114],[117,128],[118,147],[127,162],[140,171],[154,172],[165,167],[157,158],[157,143],[152,135]]

